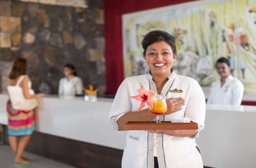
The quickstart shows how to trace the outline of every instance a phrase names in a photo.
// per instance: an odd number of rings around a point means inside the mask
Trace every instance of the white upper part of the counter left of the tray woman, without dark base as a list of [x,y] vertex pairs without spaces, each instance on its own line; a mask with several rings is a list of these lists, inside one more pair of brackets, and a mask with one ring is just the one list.
[[[7,125],[7,95],[0,94],[0,124]],[[125,132],[117,133],[109,120],[113,99],[97,102],[82,97],[47,96],[36,109],[36,131],[76,141],[124,149]]]

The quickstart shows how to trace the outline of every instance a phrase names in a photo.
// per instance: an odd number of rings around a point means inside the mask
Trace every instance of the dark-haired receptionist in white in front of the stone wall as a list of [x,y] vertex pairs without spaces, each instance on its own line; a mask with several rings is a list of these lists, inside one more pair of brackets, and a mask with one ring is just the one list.
[[60,96],[82,95],[82,79],[77,76],[75,66],[66,64],[63,69],[65,77],[59,80],[58,94]]

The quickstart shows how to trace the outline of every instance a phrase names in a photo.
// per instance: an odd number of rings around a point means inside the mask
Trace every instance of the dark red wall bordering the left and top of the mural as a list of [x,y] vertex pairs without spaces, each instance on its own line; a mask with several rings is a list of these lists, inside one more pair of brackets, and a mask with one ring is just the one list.
[[106,94],[115,95],[123,80],[122,14],[158,8],[188,0],[105,0]]

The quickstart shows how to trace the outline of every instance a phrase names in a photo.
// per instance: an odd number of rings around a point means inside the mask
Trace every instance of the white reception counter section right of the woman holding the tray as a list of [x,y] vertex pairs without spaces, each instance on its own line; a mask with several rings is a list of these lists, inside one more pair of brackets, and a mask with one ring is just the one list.
[[205,166],[256,167],[256,106],[206,106],[205,128],[196,142]]

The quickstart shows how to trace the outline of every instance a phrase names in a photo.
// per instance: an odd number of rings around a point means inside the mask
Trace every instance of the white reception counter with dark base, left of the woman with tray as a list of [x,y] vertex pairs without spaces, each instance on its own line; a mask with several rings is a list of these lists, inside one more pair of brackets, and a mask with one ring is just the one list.
[[[2,125],[8,121],[7,99],[7,95],[0,94]],[[119,168],[126,133],[117,133],[112,128],[109,120],[112,101],[108,98],[98,98],[97,102],[84,101],[82,97],[41,98],[35,110],[36,131],[26,150],[75,167]]]

